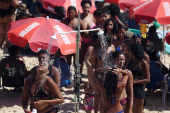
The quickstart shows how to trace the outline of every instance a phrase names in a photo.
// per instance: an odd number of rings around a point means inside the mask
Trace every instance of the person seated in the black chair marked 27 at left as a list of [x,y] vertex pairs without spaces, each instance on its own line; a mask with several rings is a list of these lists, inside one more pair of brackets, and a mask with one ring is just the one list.
[[[1,70],[3,70],[2,66],[4,66],[6,62],[18,63],[19,58],[22,59],[22,60],[19,60],[19,63],[24,64],[24,62],[23,62],[24,59],[21,56],[18,56],[20,50],[21,50],[21,48],[16,45],[12,45],[8,48],[9,57],[3,58],[1,60]],[[25,64],[24,64],[24,68],[25,68],[25,78],[26,78],[30,72],[27,71]]]

